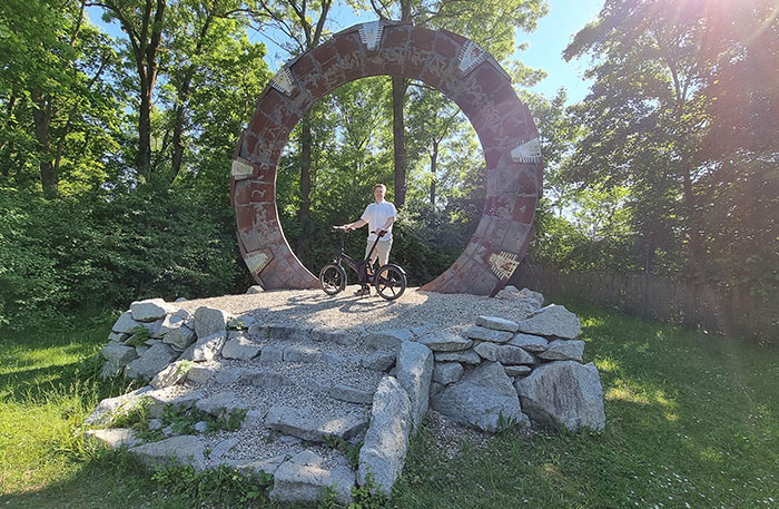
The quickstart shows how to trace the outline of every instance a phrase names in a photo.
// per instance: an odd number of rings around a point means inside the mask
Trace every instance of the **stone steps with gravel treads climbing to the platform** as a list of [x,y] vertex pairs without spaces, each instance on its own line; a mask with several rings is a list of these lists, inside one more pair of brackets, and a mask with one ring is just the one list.
[[[316,500],[336,487],[336,500],[348,503],[357,469],[356,454],[347,458],[345,449],[357,451],[365,440],[376,390],[395,365],[401,340],[392,331],[359,337],[286,324],[246,327],[250,321],[243,319],[243,330],[201,332],[216,344],[210,359],[193,360],[193,346],[201,342],[196,341],[150,385],[103,400],[87,420],[89,427],[110,427],[116,417],[144,405],[149,429],[161,440],[142,443],[137,432],[117,428],[92,429],[87,435],[128,447],[151,467],[171,458],[197,469],[227,464],[273,474],[272,496],[282,500]],[[177,435],[162,419],[174,408],[214,419],[244,418],[237,430],[208,432],[203,421],[194,425],[196,434]],[[384,419],[406,421],[401,429],[407,447],[410,414]],[[405,456],[405,450],[398,452]],[[394,462],[400,462],[400,473],[403,459]]]

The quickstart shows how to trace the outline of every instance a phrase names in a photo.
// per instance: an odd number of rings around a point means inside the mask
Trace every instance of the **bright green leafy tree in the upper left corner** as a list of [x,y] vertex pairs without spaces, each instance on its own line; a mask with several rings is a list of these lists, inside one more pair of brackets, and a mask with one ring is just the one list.
[[100,173],[100,153],[122,117],[105,80],[116,63],[110,40],[83,10],[83,2],[45,0],[0,8],[0,166],[7,184],[12,174],[16,186],[38,180],[47,197],[60,189],[63,172],[67,192]]

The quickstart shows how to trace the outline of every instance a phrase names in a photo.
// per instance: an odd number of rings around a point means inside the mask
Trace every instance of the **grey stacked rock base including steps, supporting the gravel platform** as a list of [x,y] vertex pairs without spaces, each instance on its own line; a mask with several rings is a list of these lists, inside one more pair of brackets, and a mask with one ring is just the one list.
[[[369,333],[135,302],[102,350],[102,375],[148,385],[101,401],[87,434],[152,467],[224,463],[273,474],[274,498],[315,500],[335,487],[348,503],[368,474],[389,492],[428,408],[486,431],[602,429],[600,378],[582,364],[576,316],[526,290],[502,297],[533,311],[519,323],[480,316],[465,330]],[[115,424],[140,407],[144,432]]]

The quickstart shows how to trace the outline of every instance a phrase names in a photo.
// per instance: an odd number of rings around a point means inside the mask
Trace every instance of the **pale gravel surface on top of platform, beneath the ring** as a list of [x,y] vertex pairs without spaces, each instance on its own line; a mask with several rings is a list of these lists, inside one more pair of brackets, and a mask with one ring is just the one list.
[[252,314],[262,323],[292,323],[300,327],[333,331],[379,331],[435,324],[464,326],[479,315],[520,321],[530,312],[530,304],[515,294],[502,292],[491,298],[467,294],[420,292],[415,287],[396,301],[378,295],[356,296],[357,286],[347,286],[338,295],[321,290],[277,290],[257,294],[224,295],[177,303],[194,313],[200,306],[217,307],[236,316]]

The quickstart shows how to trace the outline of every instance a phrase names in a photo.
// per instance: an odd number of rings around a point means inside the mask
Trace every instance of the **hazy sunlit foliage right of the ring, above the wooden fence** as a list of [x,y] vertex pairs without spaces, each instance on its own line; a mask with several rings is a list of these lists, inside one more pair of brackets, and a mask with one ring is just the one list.
[[779,144],[765,114],[779,105],[765,71],[779,66],[776,6],[688,3],[609,0],[576,33],[565,58],[592,55],[594,85],[568,111],[579,133],[561,173],[580,188],[624,187],[629,229],[607,243],[620,268],[776,295]]

